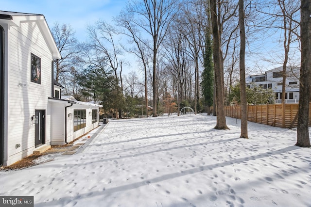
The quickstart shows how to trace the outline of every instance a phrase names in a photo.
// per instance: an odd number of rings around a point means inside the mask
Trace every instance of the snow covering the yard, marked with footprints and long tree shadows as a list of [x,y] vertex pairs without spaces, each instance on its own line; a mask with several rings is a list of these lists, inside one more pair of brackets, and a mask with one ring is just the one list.
[[[203,114],[109,120],[74,155],[0,174],[36,207],[311,207],[311,149],[295,130]],[[1,171],[0,171],[1,172]]]

